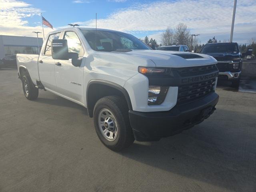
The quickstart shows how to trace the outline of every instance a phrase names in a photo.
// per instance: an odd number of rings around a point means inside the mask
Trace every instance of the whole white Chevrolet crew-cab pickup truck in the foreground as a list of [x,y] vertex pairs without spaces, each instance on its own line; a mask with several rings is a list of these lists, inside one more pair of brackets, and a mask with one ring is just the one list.
[[17,54],[28,100],[43,89],[84,106],[100,141],[116,151],[208,118],[218,102],[216,63],[212,56],[151,50],[130,34],[92,28],[51,32],[39,56]]

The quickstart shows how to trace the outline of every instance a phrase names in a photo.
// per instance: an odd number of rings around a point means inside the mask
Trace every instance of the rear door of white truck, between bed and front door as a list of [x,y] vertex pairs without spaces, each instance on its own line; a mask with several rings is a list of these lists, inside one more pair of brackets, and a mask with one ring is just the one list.
[[55,60],[52,58],[51,43],[53,39],[58,39],[61,32],[50,34],[48,36],[46,45],[42,54],[38,58],[38,69],[40,81],[45,88],[56,91],[56,80],[55,80]]

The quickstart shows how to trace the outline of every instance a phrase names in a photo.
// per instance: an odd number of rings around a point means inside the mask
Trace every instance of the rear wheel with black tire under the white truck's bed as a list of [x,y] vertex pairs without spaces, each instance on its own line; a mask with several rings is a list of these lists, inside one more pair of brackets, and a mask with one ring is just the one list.
[[34,86],[28,75],[22,76],[22,88],[24,96],[28,100],[35,100],[38,98],[38,88]]

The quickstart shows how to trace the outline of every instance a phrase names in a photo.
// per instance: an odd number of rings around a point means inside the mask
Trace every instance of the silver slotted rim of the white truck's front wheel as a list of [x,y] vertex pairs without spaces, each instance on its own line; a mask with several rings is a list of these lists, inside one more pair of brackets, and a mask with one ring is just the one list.
[[114,141],[118,135],[116,118],[108,109],[102,109],[98,115],[98,126],[101,134],[108,141]]

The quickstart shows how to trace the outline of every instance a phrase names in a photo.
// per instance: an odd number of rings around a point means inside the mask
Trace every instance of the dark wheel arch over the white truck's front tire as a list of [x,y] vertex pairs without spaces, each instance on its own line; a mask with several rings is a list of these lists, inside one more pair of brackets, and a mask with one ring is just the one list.
[[122,86],[106,80],[91,80],[86,89],[87,111],[93,117],[93,110],[96,102],[105,96],[118,95],[125,99],[128,109],[132,110],[130,96]]

